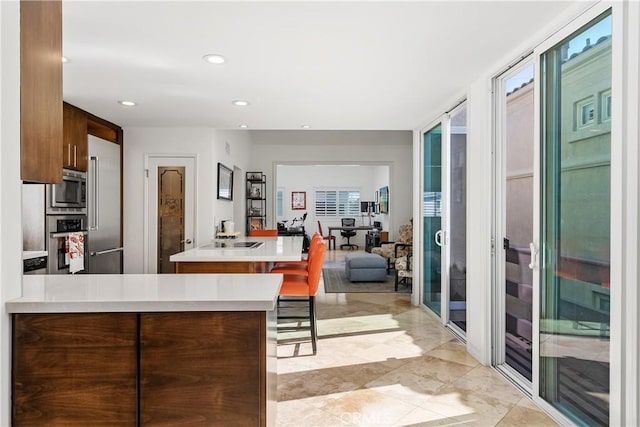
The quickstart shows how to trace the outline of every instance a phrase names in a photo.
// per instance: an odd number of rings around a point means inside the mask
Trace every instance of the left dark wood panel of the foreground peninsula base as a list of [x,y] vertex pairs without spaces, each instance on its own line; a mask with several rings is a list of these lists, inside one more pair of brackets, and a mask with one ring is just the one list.
[[136,425],[136,314],[15,314],[13,425]]

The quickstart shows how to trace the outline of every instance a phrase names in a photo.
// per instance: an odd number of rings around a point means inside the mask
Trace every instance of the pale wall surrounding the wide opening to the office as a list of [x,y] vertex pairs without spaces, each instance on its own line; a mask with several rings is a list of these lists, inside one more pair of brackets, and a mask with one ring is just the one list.
[[[389,212],[384,228],[394,238],[412,213],[412,133],[408,131],[251,131],[253,170],[267,176],[267,200],[274,200],[278,164],[359,164],[389,167]],[[381,181],[376,181],[378,188]],[[386,183],[384,185],[387,185]],[[296,190],[297,191],[297,190]],[[274,221],[274,209],[267,206]],[[271,223],[275,226],[275,223]]]

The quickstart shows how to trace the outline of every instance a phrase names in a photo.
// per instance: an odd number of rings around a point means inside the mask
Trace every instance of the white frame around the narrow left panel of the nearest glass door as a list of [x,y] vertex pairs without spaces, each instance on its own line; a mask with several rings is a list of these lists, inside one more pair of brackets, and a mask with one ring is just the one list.
[[[505,83],[511,77],[520,73],[527,67],[533,66],[533,83],[534,83],[534,125],[533,125],[533,134],[531,135],[532,144],[534,146],[534,154],[533,154],[533,215],[534,215],[534,236],[532,238],[535,242],[536,238],[536,226],[535,226],[535,216],[539,210],[537,205],[539,194],[537,190],[537,184],[535,182],[536,175],[539,174],[539,158],[538,154],[535,152],[535,146],[537,144],[537,134],[538,132],[538,124],[536,120],[538,119],[538,111],[539,111],[539,101],[538,95],[536,92],[538,87],[538,78],[539,78],[539,66],[538,61],[536,61],[536,57],[533,54],[527,55],[525,58],[519,60],[516,64],[512,65],[508,70],[502,72],[493,78],[493,232],[492,232],[492,242],[491,242],[491,254],[493,256],[492,260],[492,274],[491,279],[493,282],[492,289],[492,355],[491,355],[491,364],[501,373],[503,373],[511,382],[513,382],[518,388],[520,388],[527,396],[531,397],[533,394],[533,379],[530,382],[527,380],[522,374],[516,371],[514,368],[509,366],[506,361],[506,341],[505,341],[505,333],[506,333],[506,274],[505,274],[505,262],[506,262],[506,252],[502,250],[503,241],[502,238],[506,235],[506,102],[503,102],[506,99],[506,88]],[[539,145],[539,144],[538,144]],[[533,262],[533,259],[532,259]],[[535,324],[536,313],[535,313],[535,288],[536,278],[535,278],[535,269],[534,269],[534,278],[533,278],[533,289],[534,289],[534,297],[532,302],[532,323]],[[539,337],[532,333],[532,358],[535,360],[535,352],[538,346]],[[532,365],[534,362],[532,361]],[[533,371],[533,366],[532,366]],[[532,373],[533,375],[533,373]]]

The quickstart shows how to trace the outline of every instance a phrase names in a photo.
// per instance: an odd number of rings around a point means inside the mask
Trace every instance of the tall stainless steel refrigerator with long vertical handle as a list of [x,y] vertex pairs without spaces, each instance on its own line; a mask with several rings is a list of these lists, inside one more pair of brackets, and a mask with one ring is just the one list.
[[120,146],[89,135],[86,254],[90,274],[122,274]]

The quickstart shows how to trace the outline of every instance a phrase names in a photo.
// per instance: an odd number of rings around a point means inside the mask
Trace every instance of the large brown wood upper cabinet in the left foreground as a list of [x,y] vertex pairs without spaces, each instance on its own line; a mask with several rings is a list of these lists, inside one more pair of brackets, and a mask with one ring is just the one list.
[[20,2],[20,176],[62,182],[62,2]]

